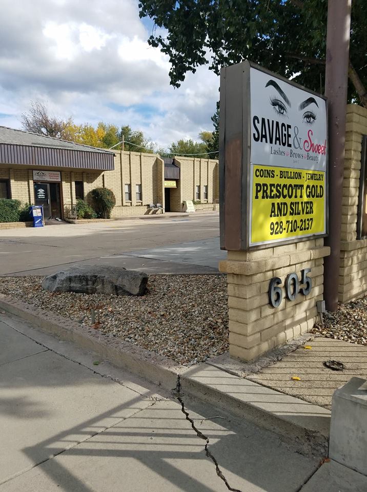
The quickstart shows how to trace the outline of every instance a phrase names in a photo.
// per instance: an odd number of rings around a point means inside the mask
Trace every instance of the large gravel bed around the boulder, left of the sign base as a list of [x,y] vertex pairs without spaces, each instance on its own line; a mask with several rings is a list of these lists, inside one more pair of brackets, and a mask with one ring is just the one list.
[[225,275],[151,275],[142,297],[50,293],[44,277],[2,277],[0,293],[192,365],[228,351]]

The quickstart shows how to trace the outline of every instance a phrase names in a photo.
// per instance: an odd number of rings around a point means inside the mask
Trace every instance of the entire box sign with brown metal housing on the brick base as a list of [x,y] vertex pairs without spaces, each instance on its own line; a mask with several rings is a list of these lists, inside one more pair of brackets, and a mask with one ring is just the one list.
[[245,61],[220,87],[221,248],[327,234],[326,99]]

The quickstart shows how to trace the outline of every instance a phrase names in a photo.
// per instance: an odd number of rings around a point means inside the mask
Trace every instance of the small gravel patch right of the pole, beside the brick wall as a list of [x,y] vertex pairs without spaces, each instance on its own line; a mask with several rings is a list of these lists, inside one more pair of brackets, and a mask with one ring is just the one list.
[[323,315],[323,326],[318,323],[312,333],[319,336],[367,345],[367,296],[339,304],[335,313]]

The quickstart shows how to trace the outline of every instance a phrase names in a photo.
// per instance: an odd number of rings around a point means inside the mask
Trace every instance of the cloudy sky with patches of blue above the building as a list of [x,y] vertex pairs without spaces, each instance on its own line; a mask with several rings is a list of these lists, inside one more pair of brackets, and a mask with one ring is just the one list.
[[212,130],[219,80],[206,67],[179,89],[150,48],[138,0],[1,0],[0,125],[21,128],[30,100],[76,123],[142,130],[160,147]]

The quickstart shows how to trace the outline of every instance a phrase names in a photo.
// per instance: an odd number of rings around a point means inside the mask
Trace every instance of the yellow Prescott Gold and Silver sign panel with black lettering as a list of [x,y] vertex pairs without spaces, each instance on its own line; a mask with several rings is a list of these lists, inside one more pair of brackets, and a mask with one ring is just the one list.
[[325,172],[252,166],[250,245],[325,231]]

